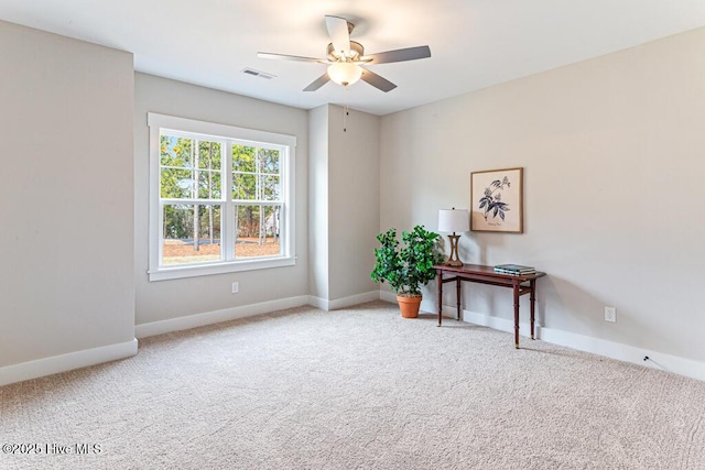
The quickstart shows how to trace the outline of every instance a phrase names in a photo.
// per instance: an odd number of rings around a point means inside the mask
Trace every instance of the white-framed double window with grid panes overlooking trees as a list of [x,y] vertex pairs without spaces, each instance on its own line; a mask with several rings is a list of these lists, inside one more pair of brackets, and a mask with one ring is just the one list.
[[294,264],[295,138],[148,121],[150,281]]

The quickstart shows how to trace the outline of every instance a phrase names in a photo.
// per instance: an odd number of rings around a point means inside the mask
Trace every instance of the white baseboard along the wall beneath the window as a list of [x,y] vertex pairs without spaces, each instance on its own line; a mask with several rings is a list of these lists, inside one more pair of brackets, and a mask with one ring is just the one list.
[[165,332],[181,331],[206,325],[219,324],[221,321],[269,314],[271,311],[310,305],[308,297],[310,296],[307,295],[302,295],[297,297],[282,298],[279,300],[262,302],[260,304],[243,305],[241,307],[224,308],[221,310],[188,315],[185,317],[170,318],[169,320],[152,321],[149,324],[137,325],[134,327],[134,332],[138,338],[147,338],[150,336],[163,335]]

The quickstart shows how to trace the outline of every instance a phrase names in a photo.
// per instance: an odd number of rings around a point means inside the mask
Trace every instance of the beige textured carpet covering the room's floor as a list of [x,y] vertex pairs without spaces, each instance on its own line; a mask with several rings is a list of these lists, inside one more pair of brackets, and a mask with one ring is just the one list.
[[0,387],[0,444],[40,451],[0,468],[705,469],[705,382],[522,343],[384,303],[148,338]]

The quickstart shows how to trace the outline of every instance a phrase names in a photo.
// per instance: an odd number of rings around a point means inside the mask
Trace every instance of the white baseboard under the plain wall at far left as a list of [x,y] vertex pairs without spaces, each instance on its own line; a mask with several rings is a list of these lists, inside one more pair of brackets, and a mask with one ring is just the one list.
[[0,368],[0,386],[137,354],[137,339]]

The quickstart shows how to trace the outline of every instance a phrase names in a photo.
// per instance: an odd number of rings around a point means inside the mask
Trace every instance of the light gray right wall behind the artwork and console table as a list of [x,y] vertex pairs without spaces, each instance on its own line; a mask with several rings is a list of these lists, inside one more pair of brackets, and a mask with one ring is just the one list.
[[[465,233],[463,260],[546,271],[549,329],[705,361],[703,51],[694,30],[383,117],[382,227],[435,229],[469,206],[473,171],[523,166],[525,233]],[[465,291],[510,318],[505,292]]]

